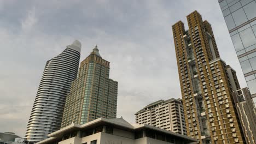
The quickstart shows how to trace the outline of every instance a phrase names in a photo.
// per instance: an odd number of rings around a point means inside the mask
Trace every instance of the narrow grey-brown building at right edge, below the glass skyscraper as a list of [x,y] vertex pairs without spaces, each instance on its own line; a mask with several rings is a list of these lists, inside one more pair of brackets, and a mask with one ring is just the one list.
[[233,93],[238,115],[242,123],[246,143],[256,143],[256,110],[248,88],[238,89]]

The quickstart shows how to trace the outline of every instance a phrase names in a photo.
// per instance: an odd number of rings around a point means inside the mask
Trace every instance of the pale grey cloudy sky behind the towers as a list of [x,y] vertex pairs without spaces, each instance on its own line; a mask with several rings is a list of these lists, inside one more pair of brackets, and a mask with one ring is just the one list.
[[97,44],[119,82],[118,117],[159,99],[181,98],[172,25],[197,10],[212,24],[220,56],[246,87],[217,0],[0,0],[0,132],[24,136],[48,59],[75,39],[80,61]]

